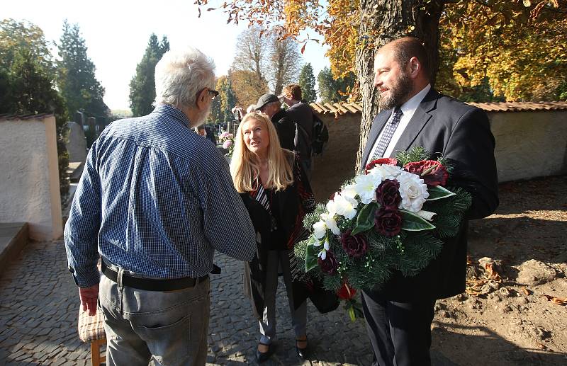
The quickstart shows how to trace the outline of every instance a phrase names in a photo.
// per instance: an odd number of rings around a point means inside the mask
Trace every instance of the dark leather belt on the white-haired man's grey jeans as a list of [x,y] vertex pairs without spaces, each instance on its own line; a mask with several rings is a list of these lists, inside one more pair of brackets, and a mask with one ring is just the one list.
[[[118,283],[118,272],[109,268],[104,259],[101,261],[101,270],[109,280]],[[199,278],[164,278],[158,280],[155,278],[139,278],[129,275],[128,273],[122,273],[122,285],[145,291],[175,291],[194,287],[207,278],[208,275]]]

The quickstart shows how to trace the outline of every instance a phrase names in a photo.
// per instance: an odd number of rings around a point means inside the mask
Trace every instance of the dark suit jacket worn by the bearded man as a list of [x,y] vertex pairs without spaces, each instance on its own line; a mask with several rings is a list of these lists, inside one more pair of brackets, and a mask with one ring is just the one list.
[[[364,164],[391,113],[392,110],[383,110],[372,122],[362,155]],[[432,159],[441,154],[451,159],[454,171],[449,185],[462,187],[473,197],[467,219],[480,219],[494,212],[498,207],[495,141],[483,110],[431,89],[412,116],[391,157],[398,151],[418,146],[432,152]],[[445,240],[442,252],[419,275],[405,278],[395,271],[391,280],[374,292],[399,302],[442,299],[463,292],[467,227],[465,220],[459,234]]]

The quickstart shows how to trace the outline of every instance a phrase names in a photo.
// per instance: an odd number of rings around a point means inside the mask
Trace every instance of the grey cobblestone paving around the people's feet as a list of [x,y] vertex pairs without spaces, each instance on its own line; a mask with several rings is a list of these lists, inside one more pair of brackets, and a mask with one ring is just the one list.
[[[242,293],[242,263],[218,254],[223,273],[211,276],[208,365],[254,365],[258,324]],[[369,365],[370,344],[361,321],[342,308],[321,315],[308,306],[312,360],[302,362],[283,283],[277,304],[275,353],[263,365]],[[90,365],[89,346],[77,336],[79,297],[67,271],[62,241],[32,242],[0,278],[0,366]]]

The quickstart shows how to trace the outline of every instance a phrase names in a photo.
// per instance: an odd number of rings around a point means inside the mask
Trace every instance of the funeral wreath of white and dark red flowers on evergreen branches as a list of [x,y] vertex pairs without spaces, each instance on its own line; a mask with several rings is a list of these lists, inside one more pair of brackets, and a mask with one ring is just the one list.
[[394,270],[417,275],[455,236],[471,195],[451,187],[451,163],[422,147],[378,159],[304,219],[310,236],[296,246],[307,275],[336,291],[354,320],[357,289],[379,288]]

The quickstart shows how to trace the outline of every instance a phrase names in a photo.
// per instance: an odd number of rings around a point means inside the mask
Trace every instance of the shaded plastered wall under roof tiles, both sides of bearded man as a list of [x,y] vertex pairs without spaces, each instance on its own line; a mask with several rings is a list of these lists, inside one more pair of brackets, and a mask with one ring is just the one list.
[[[354,176],[360,113],[318,114],[329,128],[329,143],[315,157],[311,184],[318,202]],[[488,112],[496,140],[498,181],[517,181],[567,173],[567,110]]]

